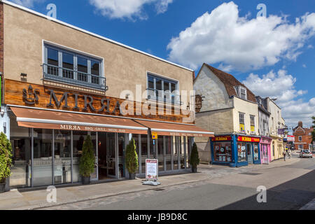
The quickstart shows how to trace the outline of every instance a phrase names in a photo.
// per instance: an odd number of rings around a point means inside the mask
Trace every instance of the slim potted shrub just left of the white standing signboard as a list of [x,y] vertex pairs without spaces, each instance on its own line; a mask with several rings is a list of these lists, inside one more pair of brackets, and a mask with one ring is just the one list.
[[126,148],[126,168],[129,172],[129,179],[136,179],[137,169],[139,167],[138,155],[134,139],[131,139]]

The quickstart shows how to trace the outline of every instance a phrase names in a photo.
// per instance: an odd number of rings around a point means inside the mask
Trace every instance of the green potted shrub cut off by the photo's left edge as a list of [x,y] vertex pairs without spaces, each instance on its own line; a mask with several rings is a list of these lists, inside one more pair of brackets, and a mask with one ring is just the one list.
[[6,134],[0,134],[0,193],[10,190],[12,146]]

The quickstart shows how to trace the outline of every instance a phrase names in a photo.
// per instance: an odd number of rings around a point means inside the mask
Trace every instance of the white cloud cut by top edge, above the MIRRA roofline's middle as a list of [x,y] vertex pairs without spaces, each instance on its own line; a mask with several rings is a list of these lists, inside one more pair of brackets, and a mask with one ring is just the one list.
[[144,12],[144,5],[155,4],[158,14],[165,13],[173,0],[90,0],[102,15],[112,19],[128,18],[146,20],[148,15]]

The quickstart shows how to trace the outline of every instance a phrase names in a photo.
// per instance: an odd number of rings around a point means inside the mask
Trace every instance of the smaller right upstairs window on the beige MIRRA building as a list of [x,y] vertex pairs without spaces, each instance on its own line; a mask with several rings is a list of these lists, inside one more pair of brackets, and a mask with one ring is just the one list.
[[172,104],[180,103],[178,82],[149,73],[147,85],[148,99]]

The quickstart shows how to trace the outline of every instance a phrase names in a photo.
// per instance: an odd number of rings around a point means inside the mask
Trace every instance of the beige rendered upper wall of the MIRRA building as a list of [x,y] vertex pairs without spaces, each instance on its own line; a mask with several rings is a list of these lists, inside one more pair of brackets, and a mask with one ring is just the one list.
[[123,90],[135,92],[136,84],[141,84],[144,92],[147,71],[179,80],[180,90],[193,90],[193,71],[85,34],[6,3],[3,6],[5,78],[20,80],[20,73],[27,73],[28,83],[42,84],[41,64],[45,40],[104,58],[108,96],[120,97]]

